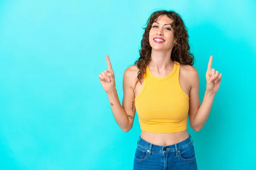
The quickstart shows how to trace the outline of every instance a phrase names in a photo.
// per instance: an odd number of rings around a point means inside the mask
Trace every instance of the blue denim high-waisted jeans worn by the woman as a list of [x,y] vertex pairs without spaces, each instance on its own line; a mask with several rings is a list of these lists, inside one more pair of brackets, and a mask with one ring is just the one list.
[[172,145],[151,144],[141,137],[134,156],[134,170],[197,170],[192,137]]

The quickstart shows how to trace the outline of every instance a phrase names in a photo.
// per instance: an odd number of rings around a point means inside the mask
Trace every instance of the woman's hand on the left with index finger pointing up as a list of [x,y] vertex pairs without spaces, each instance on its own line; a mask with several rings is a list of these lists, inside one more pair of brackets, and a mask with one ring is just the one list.
[[115,75],[114,75],[108,55],[106,55],[106,60],[108,64],[108,70],[102,71],[102,73],[99,74],[99,80],[104,90],[108,93],[115,90],[116,83],[115,83]]

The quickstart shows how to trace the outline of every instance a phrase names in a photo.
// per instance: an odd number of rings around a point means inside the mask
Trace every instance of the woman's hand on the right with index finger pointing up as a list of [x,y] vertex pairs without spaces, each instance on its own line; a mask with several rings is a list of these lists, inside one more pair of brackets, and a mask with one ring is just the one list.
[[[212,68],[212,56],[210,56],[208,68],[206,72],[206,89],[208,91],[212,91],[216,93],[220,87],[221,84],[221,76],[222,74],[218,73],[218,71],[215,71],[214,68]],[[212,69],[211,69],[212,68]]]

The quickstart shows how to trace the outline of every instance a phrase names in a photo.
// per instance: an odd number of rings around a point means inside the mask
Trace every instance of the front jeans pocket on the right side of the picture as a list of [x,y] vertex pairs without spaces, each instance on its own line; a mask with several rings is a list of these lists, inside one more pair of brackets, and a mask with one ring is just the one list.
[[195,150],[193,144],[178,150],[180,160],[193,161],[195,160]]

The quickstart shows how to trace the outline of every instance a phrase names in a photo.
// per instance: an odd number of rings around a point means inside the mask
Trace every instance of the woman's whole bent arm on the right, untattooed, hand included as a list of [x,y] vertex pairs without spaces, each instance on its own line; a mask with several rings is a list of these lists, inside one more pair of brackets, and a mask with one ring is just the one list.
[[206,123],[211,108],[214,96],[218,91],[221,83],[221,76],[218,71],[212,67],[212,56],[209,59],[208,68],[206,72],[206,91],[204,99],[200,105],[199,99],[199,76],[195,70],[191,75],[191,89],[189,92],[189,123],[195,131],[201,130]]

